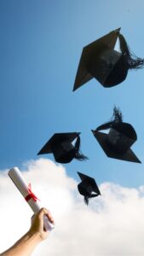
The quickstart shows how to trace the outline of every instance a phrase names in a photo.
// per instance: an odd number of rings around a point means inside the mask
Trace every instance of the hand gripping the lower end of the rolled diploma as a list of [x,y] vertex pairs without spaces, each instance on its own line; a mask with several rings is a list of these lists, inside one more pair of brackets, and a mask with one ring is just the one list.
[[29,230],[31,235],[37,234],[40,241],[43,241],[49,236],[49,231],[43,230],[43,216],[47,216],[49,222],[54,224],[54,219],[52,218],[50,212],[46,208],[42,208],[37,214],[32,216],[32,224]]

